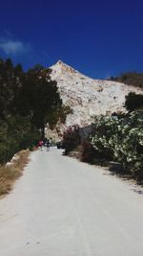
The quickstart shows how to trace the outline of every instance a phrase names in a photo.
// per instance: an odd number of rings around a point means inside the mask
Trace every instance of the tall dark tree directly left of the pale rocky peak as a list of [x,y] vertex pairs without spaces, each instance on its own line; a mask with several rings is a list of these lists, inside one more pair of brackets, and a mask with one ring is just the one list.
[[45,125],[56,125],[62,112],[62,100],[56,81],[51,81],[50,70],[37,66],[26,74],[20,93],[19,111],[22,115],[31,115],[31,123],[41,129],[45,136]]

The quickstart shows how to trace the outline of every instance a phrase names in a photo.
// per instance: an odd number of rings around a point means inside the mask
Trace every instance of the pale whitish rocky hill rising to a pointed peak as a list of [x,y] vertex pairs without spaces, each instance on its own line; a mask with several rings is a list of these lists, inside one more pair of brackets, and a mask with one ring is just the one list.
[[57,81],[63,103],[70,105],[66,127],[79,124],[81,127],[92,122],[93,115],[125,111],[125,96],[143,90],[117,81],[93,80],[65,64],[61,60],[51,67],[51,79]]

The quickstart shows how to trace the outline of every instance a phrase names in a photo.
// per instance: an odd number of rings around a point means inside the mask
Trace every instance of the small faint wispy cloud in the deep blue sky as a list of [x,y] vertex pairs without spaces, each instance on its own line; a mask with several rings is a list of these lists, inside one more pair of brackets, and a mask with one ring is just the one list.
[[0,48],[6,55],[17,55],[28,52],[30,46],[19,40],[0,39]]

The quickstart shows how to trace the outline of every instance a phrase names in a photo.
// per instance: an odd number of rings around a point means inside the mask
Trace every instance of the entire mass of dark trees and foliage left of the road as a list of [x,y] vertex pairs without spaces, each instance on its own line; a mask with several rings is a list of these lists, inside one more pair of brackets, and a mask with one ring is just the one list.
[[[0,59],[0,163],[36,145],[47,123],[64,122],[71,109],[62,104],[50,70],[36,65],[28,72]],[[39,133],[41,131],[41,134]]]

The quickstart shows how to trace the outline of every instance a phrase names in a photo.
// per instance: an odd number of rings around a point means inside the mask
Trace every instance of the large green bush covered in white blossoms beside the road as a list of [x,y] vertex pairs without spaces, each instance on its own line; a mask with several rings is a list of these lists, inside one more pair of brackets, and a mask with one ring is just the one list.
[[143,178],[143,111],[120,120],[96,118],[91,142],[104,157],[121,163],[124,172]]

